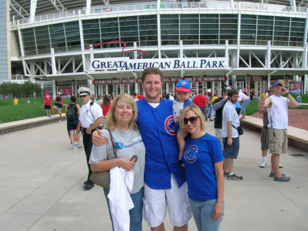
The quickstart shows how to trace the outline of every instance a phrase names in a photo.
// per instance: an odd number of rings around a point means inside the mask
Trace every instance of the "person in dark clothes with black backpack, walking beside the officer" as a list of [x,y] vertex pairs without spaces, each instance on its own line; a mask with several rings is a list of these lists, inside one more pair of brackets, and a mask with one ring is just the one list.
[[[67,119],[67,131],[70,135],[70,142],[73,145],[74,149],[74,131],[77,130],[77,126],[79,123],[79,114],[80,114],[80,106],[79,104],[76,104],[77,97],[72,96],[70,97],[70,104],[68,104],[65,108],[65,114]],[[79,144],[80,141],[80,133],[78,135],[78,147],[81,147]]]

